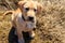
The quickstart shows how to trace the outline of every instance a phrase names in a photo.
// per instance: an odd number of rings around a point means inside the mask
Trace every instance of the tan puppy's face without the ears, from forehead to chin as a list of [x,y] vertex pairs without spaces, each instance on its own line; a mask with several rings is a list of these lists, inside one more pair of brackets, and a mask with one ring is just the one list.
[[28,22],[35,23],[36,13],[37,13],[37,5],[35,4],[35,2],[32,2],[32,1],[26,2],[23,5],[22,11],[23,11],[23,15],[25,16],[25,19],[27,19]]

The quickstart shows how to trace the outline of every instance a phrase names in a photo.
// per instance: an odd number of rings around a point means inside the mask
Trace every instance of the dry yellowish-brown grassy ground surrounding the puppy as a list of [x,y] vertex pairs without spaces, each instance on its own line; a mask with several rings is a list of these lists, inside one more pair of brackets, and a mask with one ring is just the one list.
[[[12,30],[11,14],[6,15],[4,19],[2,15],[8,10],[16,9],[13,0],[8,6],[0,0],[0,43],[13,43],[10,42],[14,35]],[[43,11],[37,15],[37,28],[35,30],[36,37],[31,41],[26,43],[65,43],[65,0],[37,0],[43,4]],[[13,6],[14,5],[14,6]],[[17,4],[16,4],[17,5]],[[10,6],[10,8],[9,8]],[[13,39],[13,41],[15,41]],[[14,42],[15,43],[15,42]]]

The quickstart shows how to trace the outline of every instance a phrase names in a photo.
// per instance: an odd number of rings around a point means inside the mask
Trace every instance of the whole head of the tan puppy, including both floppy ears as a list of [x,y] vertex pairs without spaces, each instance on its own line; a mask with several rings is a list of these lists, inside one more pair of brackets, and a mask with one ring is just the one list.
[[36,15],[41,12],[42,5],[37,1],[20,1],[18,6],[27,22],[36,24]]

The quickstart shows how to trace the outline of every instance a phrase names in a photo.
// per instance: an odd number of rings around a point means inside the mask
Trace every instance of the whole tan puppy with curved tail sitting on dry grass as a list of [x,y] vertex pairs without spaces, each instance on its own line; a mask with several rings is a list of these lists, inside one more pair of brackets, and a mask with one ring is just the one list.
[[35,35],[32,29],[36,28],[36,15],[42,10],[42,5],[37,1],[20,1],[16,11],[8,11],[3,15],[12,12],[12,25],[16,28],[18,43],[25,43],[22,31]]

